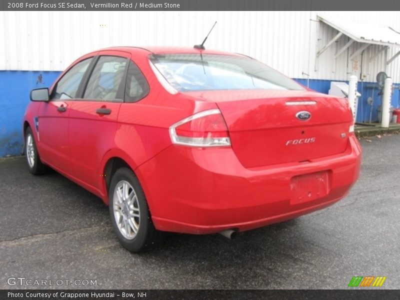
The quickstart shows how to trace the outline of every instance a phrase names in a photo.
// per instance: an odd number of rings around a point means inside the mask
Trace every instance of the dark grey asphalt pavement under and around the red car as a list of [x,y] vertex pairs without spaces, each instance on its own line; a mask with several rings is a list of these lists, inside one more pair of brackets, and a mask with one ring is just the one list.
[[352,276],[400,288],[400,135],[361,145],[358,182],[328,208],[234,240],[170,234],[142,254],[119,245],[99,198],[55,171],[31,175],[24,157],[0,159],[0,288],[348,288]]

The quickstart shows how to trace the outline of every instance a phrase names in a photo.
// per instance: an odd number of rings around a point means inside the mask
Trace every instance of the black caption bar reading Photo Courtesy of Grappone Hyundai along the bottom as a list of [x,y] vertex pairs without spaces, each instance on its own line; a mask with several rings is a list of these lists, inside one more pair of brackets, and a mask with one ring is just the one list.
[[219,299],[398,299],[400,290],[385,290],[375,288],[348,288],[336,290],[322,289],[2,289],[0,290],[1,300],[153,300],[153,299],[184,299],[184,300],[219,300]]

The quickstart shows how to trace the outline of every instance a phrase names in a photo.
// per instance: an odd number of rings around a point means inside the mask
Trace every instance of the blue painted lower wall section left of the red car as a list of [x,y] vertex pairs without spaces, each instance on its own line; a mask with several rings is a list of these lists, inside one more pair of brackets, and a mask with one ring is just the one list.
[[[0,157],[22,148],[22,117],[33,88],[48,87],[60,72],[0,71]],[[41,74],[41,80],[38,76]]]

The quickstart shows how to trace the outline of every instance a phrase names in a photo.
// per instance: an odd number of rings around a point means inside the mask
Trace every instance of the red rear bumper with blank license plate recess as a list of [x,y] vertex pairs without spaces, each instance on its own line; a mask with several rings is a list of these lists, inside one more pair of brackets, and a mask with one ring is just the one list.
[[228,147],[172,145],[136,173],[157,229],[202,234],[257,228],[331,205],[357,180],[360,159],[353,135],[341,154],[251,169]]

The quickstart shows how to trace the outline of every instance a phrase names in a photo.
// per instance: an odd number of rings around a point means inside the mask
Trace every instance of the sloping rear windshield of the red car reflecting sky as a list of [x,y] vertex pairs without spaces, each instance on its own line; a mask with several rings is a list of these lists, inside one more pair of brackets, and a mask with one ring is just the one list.
[[296,89],[294,80],[255,59],[216,54],[155,54],[151,62],[179,91]]

